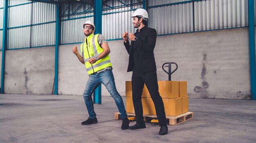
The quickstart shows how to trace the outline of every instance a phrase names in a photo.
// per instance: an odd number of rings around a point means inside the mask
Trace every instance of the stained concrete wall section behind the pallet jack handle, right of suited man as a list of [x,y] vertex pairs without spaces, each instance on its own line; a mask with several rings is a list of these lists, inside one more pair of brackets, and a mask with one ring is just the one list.
[[168,79],[162,63],[175,62],[172,80],[186,80],[190,97],[250,99],[248,41],[247,28],[157,37],[158,80]]

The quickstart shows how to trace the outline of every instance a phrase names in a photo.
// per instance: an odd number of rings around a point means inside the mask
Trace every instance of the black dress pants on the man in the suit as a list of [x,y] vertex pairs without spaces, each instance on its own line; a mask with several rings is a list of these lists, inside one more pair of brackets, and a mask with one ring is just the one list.
[[139,73],[134,69],[132,72],[132,101],[135,110],[136,123],[144,124],[143,108],[141,102],[141,94],[144,83],[146,84],[146,87],[148,88],[150,96],[154,102],[159,126],[166,126],[164,103],[158,92],[157,73]]

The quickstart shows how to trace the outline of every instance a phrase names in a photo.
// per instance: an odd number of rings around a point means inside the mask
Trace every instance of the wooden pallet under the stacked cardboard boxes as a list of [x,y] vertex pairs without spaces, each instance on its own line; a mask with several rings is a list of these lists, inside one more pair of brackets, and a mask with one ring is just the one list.
[[[120,113],[115,113],[115,119],[116,120],[121,119],[120,115],[121,115]],[[127,115],[135,116],[135,113],[127,113]],[[143,114],[143,116],[144,116],[144,121],[146,121],[147,119],[146,117],[155,117],[155,118],[157,117],[156,115],[146,115],[146,114]],[[193,117],[194,117],[193,112],[186,112],[177,116],[166,116],[166,119],[169,120],[169,125],[177,125],[177,124],[183,123],[184,121],[188,121]]]

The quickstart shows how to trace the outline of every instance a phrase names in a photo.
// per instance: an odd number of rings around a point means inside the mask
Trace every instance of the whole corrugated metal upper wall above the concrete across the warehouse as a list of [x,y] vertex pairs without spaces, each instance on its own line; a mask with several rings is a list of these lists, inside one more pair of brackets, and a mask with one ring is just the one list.
[[[30,3],[12,6],[28,2]],[[161,4],[166,5],[154,7]],[[8,48],[55,43],[56,6],[54,4],[9,0],[9,6],[12,7],[9,7],[8,13],[8,27],[11,28],[8,30]],[[158,35],[248,26],[247,0],[200,0],[194,3],[191,0],[148,0],[148,6],[150,18],[148,25],[155,28]],[[106,39],[120,39],[124,31],[134,33],[136,29],[133,28],[130,16],[135,9],[141,7],[142,3],[138,0],[132,0],[132,3],[130,0],[110,0],[103,4],[102,35]],[[80,27],[87,20],[93,21],[92,11],[93,7],[89,4],[62,4],[61,44],[84,40]],[[3,9],[0,9],[0,15],[3,15]],[[52,23],[30,27],[31,24],[45,22]],[[2,24],[1,17],[0,27]],[[26,25],[29,27],[24,27]],[[12,28],[16,26],[18,28]]]

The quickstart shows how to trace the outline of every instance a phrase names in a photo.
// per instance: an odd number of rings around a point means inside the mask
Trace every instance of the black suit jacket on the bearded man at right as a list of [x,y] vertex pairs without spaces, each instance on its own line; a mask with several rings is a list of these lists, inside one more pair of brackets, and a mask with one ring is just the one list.
[[[139,32],[139,30],[137,30]],[[134,35],[136,35],[136,33]],[[154,48],[157,39],[157,31],[153,28],[144,26],[140,29],[137,41],[129,40],[124,42],[129,54],[129,64],[127,72],[135,69],[139,73],[157,71],[155,64]]]

